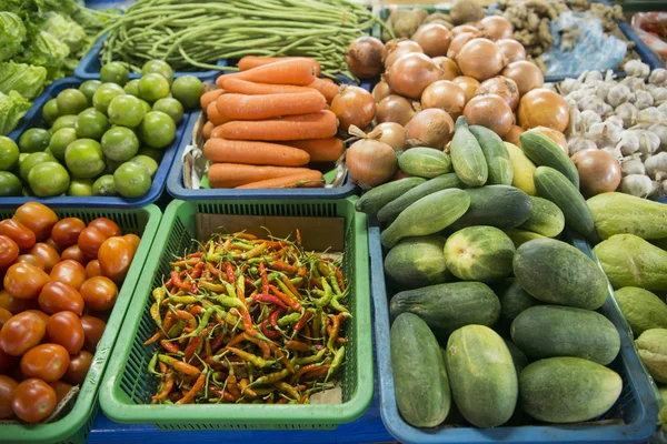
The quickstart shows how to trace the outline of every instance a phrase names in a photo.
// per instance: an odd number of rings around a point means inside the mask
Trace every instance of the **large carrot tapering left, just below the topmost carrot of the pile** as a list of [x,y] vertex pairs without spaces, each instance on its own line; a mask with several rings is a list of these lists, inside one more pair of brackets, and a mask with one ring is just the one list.
[[315,80],[315,75],[312,75],[312,62],[305,58],[282,60],[280,62],[252,68],[248,71],[220,75],[218,80],[216,80],[218,88],[222,88],[221,84],[225,78],[235,78],[258,83],[300,85],[310,84]]

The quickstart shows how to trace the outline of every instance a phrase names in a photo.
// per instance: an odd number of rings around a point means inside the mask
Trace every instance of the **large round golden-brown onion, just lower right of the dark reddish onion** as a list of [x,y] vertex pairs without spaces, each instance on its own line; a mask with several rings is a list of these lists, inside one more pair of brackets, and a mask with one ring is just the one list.
[[411,52],[398,58],[385,74],[397,94],[419,99],[424,89],[440,78],[440,70],[426,54]]

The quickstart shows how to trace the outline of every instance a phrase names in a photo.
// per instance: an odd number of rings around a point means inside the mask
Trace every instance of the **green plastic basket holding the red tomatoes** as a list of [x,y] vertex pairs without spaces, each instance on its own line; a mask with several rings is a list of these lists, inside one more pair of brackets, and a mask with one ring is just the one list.
[[[70,403],[69,412],[58,421],[49,424],[8,424],[0,422],[0,442],[8,443],[84,443],[92,422],[99,410],[97,400],[98,389],[102,373],[109,361],[111,349],[118,337],[127,309],[130,305],[135,285],[141,276],[141,270],[158,232],[161,212],[156,205],[148,205],[137,210],[107,210],[107,209],[54,209],[60,218],[79,218],[86,223],[97,218],[109,218],[115,221],[123,233],[135,233],[141,236],[130,270],[118,292],[113,311],[107,321],[107,327],[97,352],[80,387],[76,401]],[[0,210],[0,219],[11,218],[13,210]]]

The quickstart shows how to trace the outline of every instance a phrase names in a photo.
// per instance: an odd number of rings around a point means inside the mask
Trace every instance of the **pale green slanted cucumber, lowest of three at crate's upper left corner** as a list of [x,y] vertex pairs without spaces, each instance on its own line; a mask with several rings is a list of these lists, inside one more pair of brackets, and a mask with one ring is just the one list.
[[386,248],[392,248],[404,238],[434,234],[445,230],[470,206],[470,196],[464,190],[450,189],[429,194],[401,211],[380,235]]

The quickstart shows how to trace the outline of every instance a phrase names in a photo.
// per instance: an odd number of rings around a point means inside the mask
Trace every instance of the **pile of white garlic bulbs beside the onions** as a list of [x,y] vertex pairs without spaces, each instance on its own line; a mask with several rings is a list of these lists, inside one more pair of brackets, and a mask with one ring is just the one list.
[[607,151],[620,162],[618,191],[641,198],[667,195],[667,70],[639,60],[627,77],[584,72],[557,85],[570,107],[569,154]]

